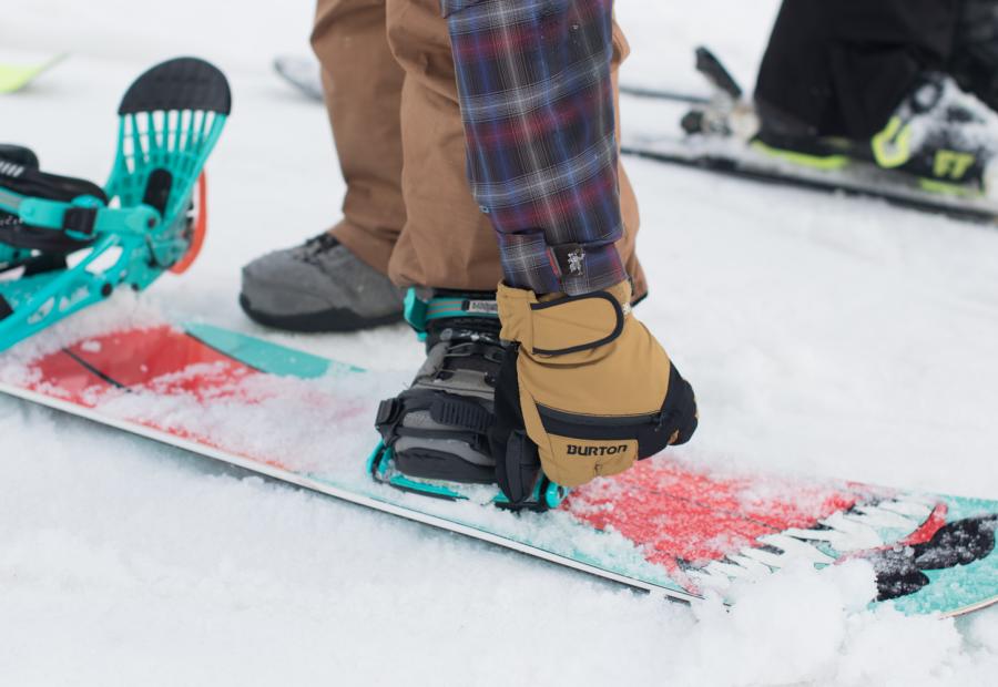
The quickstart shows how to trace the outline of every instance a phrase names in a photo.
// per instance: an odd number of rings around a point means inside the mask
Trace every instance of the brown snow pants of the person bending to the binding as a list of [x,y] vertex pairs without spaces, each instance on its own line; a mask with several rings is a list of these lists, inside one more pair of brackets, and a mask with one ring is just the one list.
[[[347,183],[344,218],[333,234],[399,286],[493,290],[499,249],[465,176],[465,132],[439,0],[318,0],[312,47]],[[615,25],[613,48],[615,86],[629,52]],[[638,202],[623,167],[620,202],[618,249],[641,297]]]

